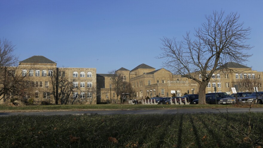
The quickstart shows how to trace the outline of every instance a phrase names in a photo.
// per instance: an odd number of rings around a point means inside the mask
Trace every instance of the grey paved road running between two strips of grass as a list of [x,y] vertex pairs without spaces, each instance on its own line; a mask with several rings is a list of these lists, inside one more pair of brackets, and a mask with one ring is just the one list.
[[[242,113],[249,108],[220,108],[220,109],[174,109],[174,110],[93,110],[93,111],[53,111],[53,112],[0,112],[1,116],[8,115],[81,115],[81,114],[177,114],[177,113]],[[251,108],[251,112],[263,112],[263,108]]]

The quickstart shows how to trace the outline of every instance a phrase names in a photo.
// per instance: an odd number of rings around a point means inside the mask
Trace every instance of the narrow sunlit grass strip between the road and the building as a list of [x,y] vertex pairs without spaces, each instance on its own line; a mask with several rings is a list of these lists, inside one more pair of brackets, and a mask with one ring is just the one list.
[[[32,105],[32,106],[10,106],[0,104],[0,111],[17,110],[104,110],[104,109],[177,109],[177,108],[225,108],[226,105],[130,105],[130,104],[94,104],[94,105]],[[249,107],[249,104],[227,107]],[[253,107],[263,107],[263,105],[253,105]]]

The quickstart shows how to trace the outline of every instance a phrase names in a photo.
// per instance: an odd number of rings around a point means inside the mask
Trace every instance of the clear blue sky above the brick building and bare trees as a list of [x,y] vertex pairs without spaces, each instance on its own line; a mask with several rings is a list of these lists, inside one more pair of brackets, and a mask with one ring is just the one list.
[[237,12],[251,27],[254,55],[246,62],[263,71],[263,1],[247,0],[0,0],[0,37],[16,45],[19,60],[43,55],[58,67],[108,73],[139,64],[159,69],[160,38],[181,40],[213,10]]

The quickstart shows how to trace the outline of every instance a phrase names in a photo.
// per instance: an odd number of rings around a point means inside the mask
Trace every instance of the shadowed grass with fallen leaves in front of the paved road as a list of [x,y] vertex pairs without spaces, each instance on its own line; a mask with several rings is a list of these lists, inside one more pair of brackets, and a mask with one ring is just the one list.
[[247,148],[262,144],[262,122],[262,113],[7,116],[0,147]]

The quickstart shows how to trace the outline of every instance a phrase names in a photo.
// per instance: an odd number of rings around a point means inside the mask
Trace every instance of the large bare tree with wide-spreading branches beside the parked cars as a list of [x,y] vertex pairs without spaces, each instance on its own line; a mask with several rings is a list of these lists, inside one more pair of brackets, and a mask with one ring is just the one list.
[[[251,29],[238,22],[237,13],[225,16],[224,11],[214,11],[206,19],[207,22],[195,29],[195,39],[189,32],[182,41],[163,37],[163,53],[157,57],[165,58],[163,66],[173,73],[199,84],[199,104],[205,104],[205,90],[215,69],[227,61],[244,63],[251,56],[244,50],[252,48],[246,44]],[[196,74],[201,75],[201,80],[194,76]]]

